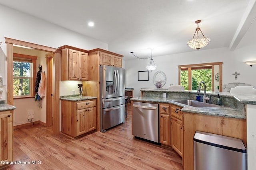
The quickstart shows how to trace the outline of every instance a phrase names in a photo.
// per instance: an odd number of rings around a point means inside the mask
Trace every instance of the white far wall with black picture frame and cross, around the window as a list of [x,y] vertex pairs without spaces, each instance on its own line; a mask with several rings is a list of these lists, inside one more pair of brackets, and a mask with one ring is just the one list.
[[[168,88],[170,83],[174,85],[178,84],[178,65],[223,62],[222,84],[244,82],[256,88],[256,79],[254,78],[256,65],[250,67],[244,64],[244,61],[256,60],[255,54],[256,49],[254,44],[235,51],[230,51],[229,48],[226,47],[153,57],[158,67],[152,72],[149,71],[149,81],[138,81],[138,71],[146,70],[146,65],[149,64],[150,59],[128,60],[125,62],[126,87],[134,88],[134,97],[138,97],[140,96],[140,88],[156,88],[153,84],[153,76],[158,70],[166,74],[167,80],[163,88]],[[237,80],[235,80],[235,77],[232,75],[235,71],[240,73]]]

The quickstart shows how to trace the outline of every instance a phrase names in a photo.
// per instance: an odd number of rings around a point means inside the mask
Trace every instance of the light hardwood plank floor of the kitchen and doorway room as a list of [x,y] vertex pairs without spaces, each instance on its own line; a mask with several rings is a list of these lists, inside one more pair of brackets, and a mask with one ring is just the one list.
[[4,169],[182,170],[182,159],[174,150],[134,139],[130,106],[127,112],[124,124],[78,139],[52,135],[50,127],[39,124],[15,130],[14,162],[30,164]]

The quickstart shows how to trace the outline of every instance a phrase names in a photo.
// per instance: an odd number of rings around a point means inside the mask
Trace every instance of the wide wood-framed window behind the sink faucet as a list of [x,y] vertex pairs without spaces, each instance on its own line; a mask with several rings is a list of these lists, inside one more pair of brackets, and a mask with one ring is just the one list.
[[[185,90],[197,90],[200,81],[206,83],[206,91],[222,91],[222,81],[219,75],[222,74],[222,62],[180,65],[179,85]],[[218,74],[218,79],[215,75]],[[203,90],[203,87],[201,87]]]

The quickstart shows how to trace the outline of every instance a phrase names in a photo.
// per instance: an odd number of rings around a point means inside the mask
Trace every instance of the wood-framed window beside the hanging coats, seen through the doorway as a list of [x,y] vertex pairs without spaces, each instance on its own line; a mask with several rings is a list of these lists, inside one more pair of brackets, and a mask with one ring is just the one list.
[[36,59],[35,56],[13,54],[14,98],[34,97]]

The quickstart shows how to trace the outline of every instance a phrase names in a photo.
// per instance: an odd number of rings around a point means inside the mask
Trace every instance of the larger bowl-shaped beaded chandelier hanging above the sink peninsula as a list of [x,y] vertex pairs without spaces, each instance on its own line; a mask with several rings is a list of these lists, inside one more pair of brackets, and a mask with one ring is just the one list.
[[[201,20],[195,21],[195,23],[197,23],[196,31],[194,33],[193,38],[187,42],[188,47],[190,47],[192,49],[197,49],[197,51],[199,49],[203,48],[204,46],[206,46],[210,41],[210,38],[204,37],[202,30],[199,28],[198,23],[200,23],[200,22],[201,22]],[[202,33],[203,37],[198,37],[198,31],[200,31]],[[194,38],[195,35],[196,35],[196,38]]]

